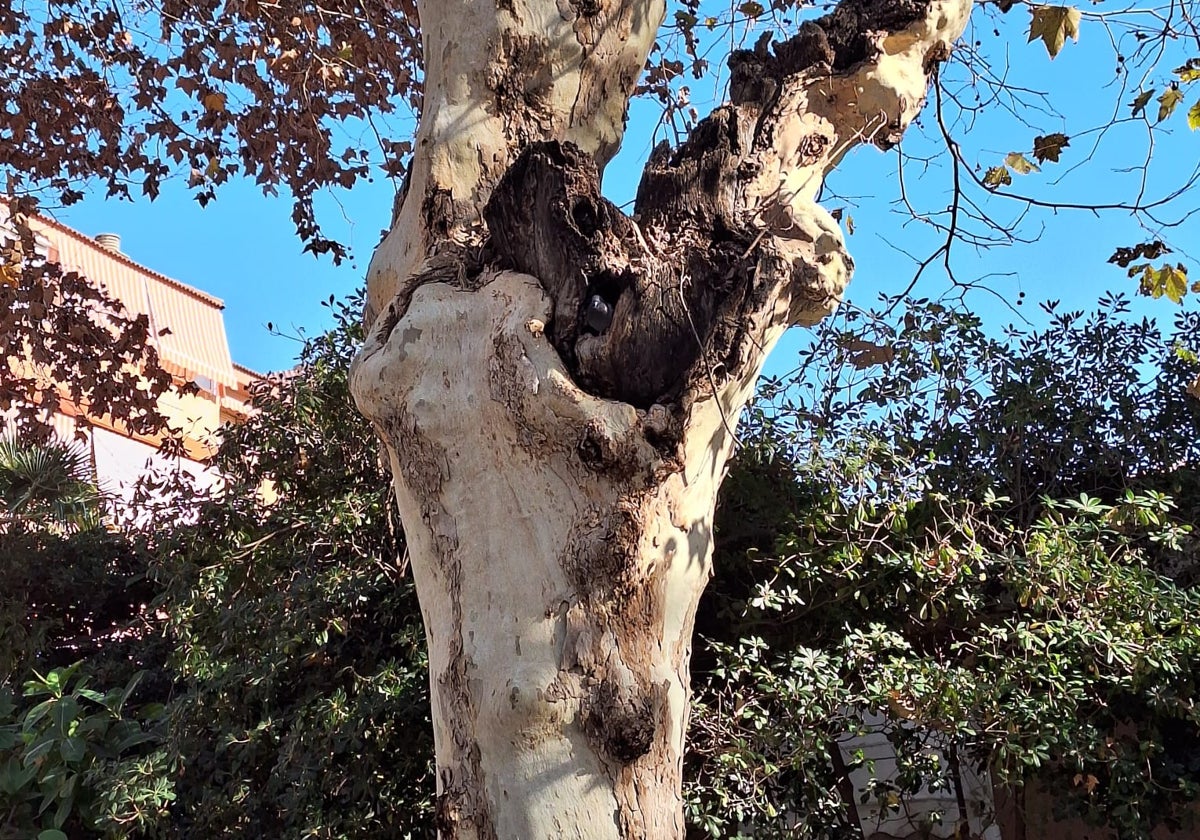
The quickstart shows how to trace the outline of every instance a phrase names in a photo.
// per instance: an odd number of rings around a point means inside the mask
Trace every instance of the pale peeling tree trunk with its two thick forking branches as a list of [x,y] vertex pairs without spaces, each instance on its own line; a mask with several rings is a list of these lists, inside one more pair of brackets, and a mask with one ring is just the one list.
[[445,838],[679,838],[688,666],[738,413],[851,271],[815,203],[899,142],[970,0],[842,2],[599,194],[662,0],[439,0],[355,362],[430,648]]

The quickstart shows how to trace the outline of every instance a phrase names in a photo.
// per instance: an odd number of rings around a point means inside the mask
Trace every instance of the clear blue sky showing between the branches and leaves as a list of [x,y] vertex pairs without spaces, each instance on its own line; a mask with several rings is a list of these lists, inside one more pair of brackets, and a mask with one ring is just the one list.
[[[1094,151],[1090,140],[1097,136],[1082,134],[1103,125],[1112,113],[1127,115],[1128,102],[1133,98],[1132,94],[1122,94],[1114,86],[1116,59],[1104,28],[1085,18],[1080,42],[1067,43],[1051,61],[1039,42],[1026,43],[1028,13],[1020,7],[1000,19],[998,36],[992,34],[992,25],[990,18],[977,12],[968,40],[978,41],[978,49],[988,54],[995,66],[1008,65],[1003,72],[1010,84],[1030,91],[1048,91],[1050,96],[1043,100],[1036,92],[1026,94],[1037,106],[1024,112],[1031,125],[1020,125],[1012,114],[992,103],[976,115],[970,130],[952,126],[962,144],[964,157],[978,163],[982,174],[986,167],[998,164],[1009,151],[1028,151],[1036,134],[1064,132],[1074,139],[1063,152],[1062,163],[1046,164],[1042,173],[1014,176],[1013,187],[1057,202],[1128,199],[1140,174],[1121,170],[1134,164],[1139,150],[1145,148],[1145,124],[1136,121],[1112,128],[1103,134]],[[744,36],[748,29],[743,26],[734,34]],[[1181,56],[1187,58],[1186,52]],[[1181,62],[1182,59],[1174,62],[1172,58],[1164,59],[1150,80],[1162,88],[1169,71]],[[961,67],[949,72],[960,84],[964,82]],[[703,114],[720,94],[704,90],[701,83],[691,84],[692,101]],[[1134,92],[1136,89],[1134,84]],[[1200,83],[1184,92],[1188,95],[1186,108],[1200,97]],[[1150,109],[1157,110],[1157,102],[1152,102]],[[952,116],[948,112],[948,118]],[[635,103],[625,146],[606,174],[606,192],[618,203],[629,199],[636,188],[658,120],[656,106]],[[944,151],[940,161],[929,166],[913,160],[935,154],[940,143],[932,112],[926,109],[922,125],[910,131],[904,144],[911,158],[906,166],[910,198],[924,211],[944,209],[952,193],[952,172]],[[1181,110],[1156,133],[1154,144],[1148,178],[1151,196],[1169,190],[1196,166],[1200,132],[1188,131]],[[1082,162],[1090,152],[1092,160],[1086,166],[1056,182],[1058,175]],[[916,266],[902,252],[924,258],[942,240],[895,206],[899,194],[896,163],[895,152],[862,148],[830,179],[833,194],[827,206],[846,208],[856,222],[856,233],[848,238],[848,245],[857,271],[848,299],[862,306],[869,306],[880,292],[895,293],[907,286]],[[1022,205],[1013,202],[988,200],[980,191],[971,194],[984,202],[983,206],[997,218],[1014,218],[1022,210]],[[328,326],[328,311],[322,301],[330,294],[346,295],[361,283],[379,232],[388,223],[391,200],[392,185],[384,178],[325,198],[322,221],[335,238],[354,250],[355,259],[341,266],[334,266],[328,258],[314,259],[302,253],[292,227],[289,199],[286,196],[264,197],[248,182],[227,185],[218,192],[217,200],[203,209],[179,181],[154,203],[104,202],[90,197],[56,211],[55,216],[86,234],[119,233],[122,250],[133,259],[222,298],[234,359],[268,371],[289,366],[298,344],[271,335],[266,324],[274,323],[292,335]],[[1178,210],[1169,215],[1178,216],[1194,205],[1195,199],[1189,203],[1188,197],[1183,197]],[[989,290],[971,293],[967,304],[995,329],[1016,320],[1020,316],[1014,312],[1039,320],[1036,302],[1040,300],[1063,299],[1067,306],[1088,307],[1105,290],[1132,294],[1133,281],[1105,260],[1115,246],[1150,238],[1128,212],[1122,211],[1100,215],[1037,211],[1024,218],[1019,232],[1037,241],[984,251],[960,244],[953,254],[961,280],[985,278]],[[1177,250],[1186,248],[1188,242],[1200,242],[1200,224],[1190,221],[1171,229],[1168,239]],[[1189,263],[1190,256],[1184,251],[1177,258]],[[1196,275],[1200,268],[1193,276]],[[937,295],[947,287],[944,271],[934,266],[917,290]],[[1025,302],[1016,307],[1020,292],[1026,293]],[[1174,308],[1166,301],[1139,304],[1139,311],[1168,317]],[[804,341],[803,332],[798,331],[791,341]],[[772,367],[786,370],[787,354],[788,343],[785,342]]]

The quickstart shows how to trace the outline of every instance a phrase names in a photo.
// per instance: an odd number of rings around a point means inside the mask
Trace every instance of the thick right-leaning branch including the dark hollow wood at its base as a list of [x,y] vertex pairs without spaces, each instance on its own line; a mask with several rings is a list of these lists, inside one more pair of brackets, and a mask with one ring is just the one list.
[[852,260],[814,200],[824,174],[856,143],[899,140],[968,8],[858,0],[736,54],[733,104],[655,150],[634,220],[588,154],[528,146],[485,210],[488,256],[540,278],[576,382],[685,403],[756,368],[773,330],[828,313]]

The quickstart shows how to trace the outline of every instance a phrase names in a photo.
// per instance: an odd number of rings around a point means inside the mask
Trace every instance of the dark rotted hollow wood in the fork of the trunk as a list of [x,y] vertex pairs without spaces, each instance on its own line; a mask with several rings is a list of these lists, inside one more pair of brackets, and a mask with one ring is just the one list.
[[546,334],[581,388],[649,408],[725,379],[756,290],[749,230],[688,217],[670,253],[654,248],[600,196],[594,160],[557,142],[526,148],[484,215],[497,268],[536,277],[553,301]]

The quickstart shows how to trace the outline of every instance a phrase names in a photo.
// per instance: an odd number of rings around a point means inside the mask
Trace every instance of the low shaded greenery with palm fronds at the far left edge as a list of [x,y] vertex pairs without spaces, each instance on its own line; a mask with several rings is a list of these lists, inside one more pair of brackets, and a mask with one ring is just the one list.
[[[152,750],[160,707],[150,698],[169,682],[146,630],[146,554],[100,527],[101,497],[86,475],[73,446],[0,444],[5,840],[127,836],[152,826],[173,798]],[[101,692],[92,683],[122,688]]]

